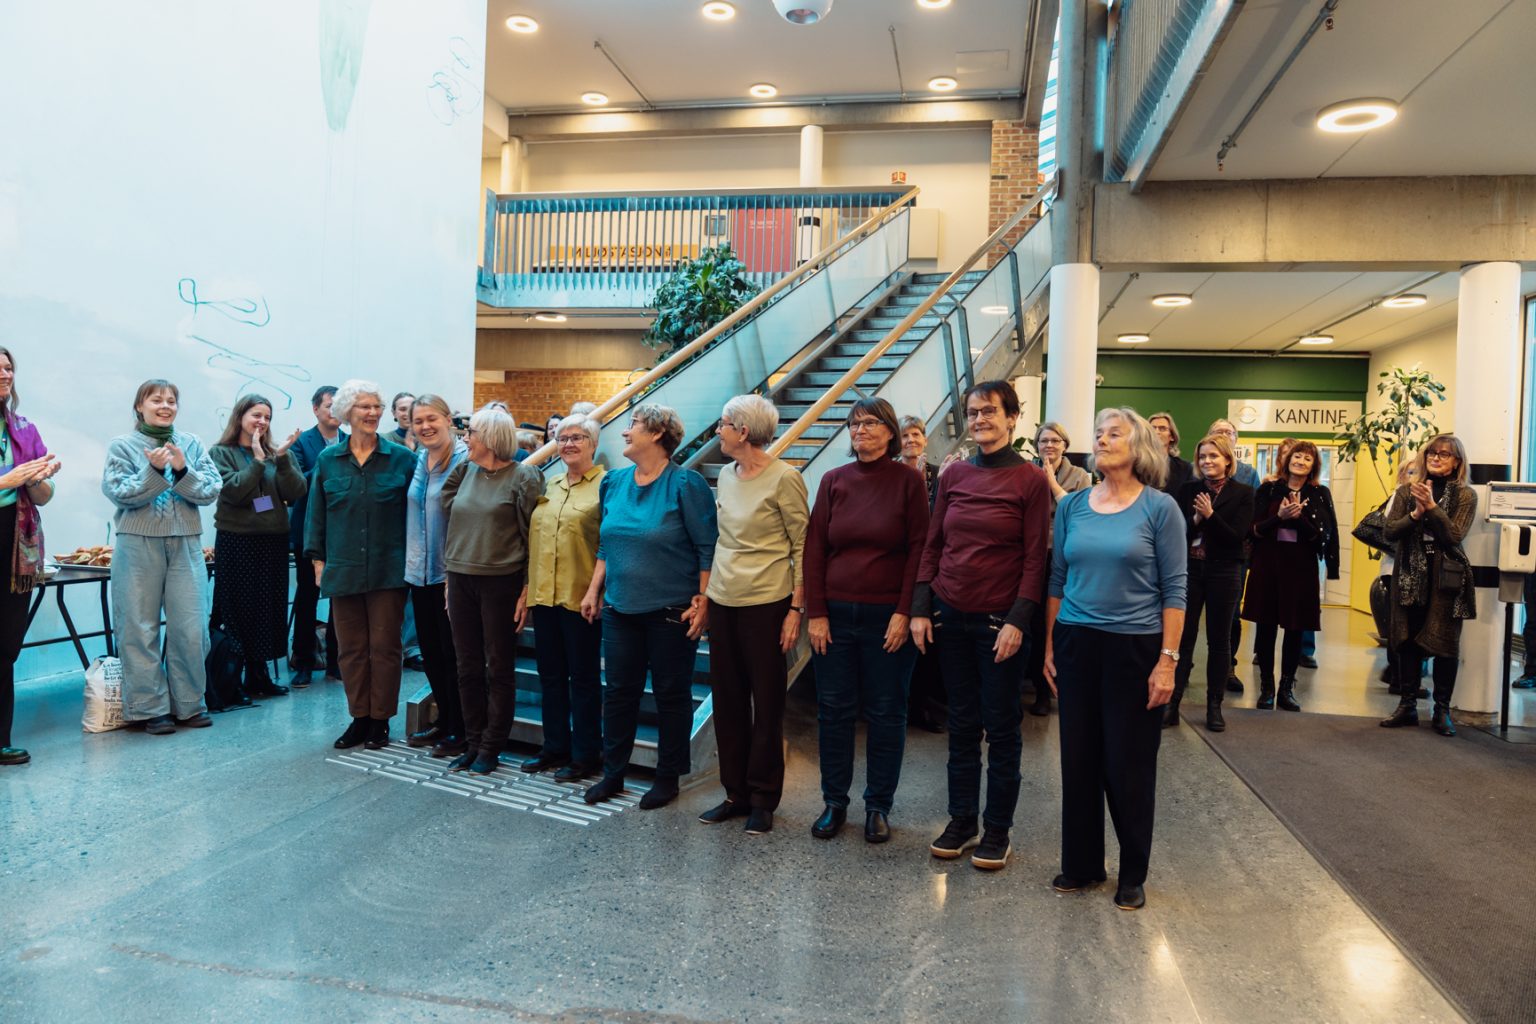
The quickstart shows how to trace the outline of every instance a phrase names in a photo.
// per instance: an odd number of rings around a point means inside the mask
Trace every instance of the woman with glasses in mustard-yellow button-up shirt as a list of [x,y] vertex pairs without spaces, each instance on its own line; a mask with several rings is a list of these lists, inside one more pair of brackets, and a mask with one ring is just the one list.
[[581,599],[598,567],[599,493],[605,470],[593,464],[598,421],[565,416],[551,438],[565,470],[544,485],[528,525],[528,582],[518,623],[533,617],[544,703],[544,746],[522,771],[558,769],[576,781],[602,763],[602,623],[587,622]]

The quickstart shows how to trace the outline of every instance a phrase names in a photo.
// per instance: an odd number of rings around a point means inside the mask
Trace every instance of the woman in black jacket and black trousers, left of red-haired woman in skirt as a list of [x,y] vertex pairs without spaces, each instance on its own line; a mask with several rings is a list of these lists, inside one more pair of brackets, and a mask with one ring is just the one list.
[[1232,665],[1232,620],[1243,596],[1243,562],[1249,527],[1253,525],[1253,488],[1232,479],[1238,459],[1226,434],[1207,434],[1195,445],[1200,479],[1178,488],[1175,499],[1184,514],[1189,537],[1189,594],[1184,633],[1178,642],[1174,699],[1163,712],[1163,728],[1178,725],[1178,705],[1193,669],[1200,611],[1206,611],[1206,728],[1221,732],[1221,717]]

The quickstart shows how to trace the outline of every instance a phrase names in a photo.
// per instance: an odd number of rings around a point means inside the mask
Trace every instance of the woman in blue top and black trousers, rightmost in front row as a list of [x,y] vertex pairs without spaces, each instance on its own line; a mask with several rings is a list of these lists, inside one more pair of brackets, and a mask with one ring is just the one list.
[[1061,709],[1061,874],[1104,880],[1104,797],[1120,840],[1115,906],[1146,906],[1157,749],[1184,629],[1184,517],[1158,488],[1167,448],[1134,408],[1094,421],[1103,481],[1057,505],[1044,676]]

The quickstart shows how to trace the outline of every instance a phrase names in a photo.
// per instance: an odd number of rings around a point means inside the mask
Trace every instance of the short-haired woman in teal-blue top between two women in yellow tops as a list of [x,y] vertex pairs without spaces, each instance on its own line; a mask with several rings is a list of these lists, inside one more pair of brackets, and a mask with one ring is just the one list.
[[647,671],[656,697],[656,783],[641,808],[676,800],[679,777],[691,771],[693,659],[705,626],[717,528],[710,485],[671,461],[680,444],[676,411],[637,405],[624,431],[624,457],[633,465],[602,477],[598,567],[581,609],[588,622],[602,614],[608,686],[602,780],[587,791],[587,803],[624,789]]

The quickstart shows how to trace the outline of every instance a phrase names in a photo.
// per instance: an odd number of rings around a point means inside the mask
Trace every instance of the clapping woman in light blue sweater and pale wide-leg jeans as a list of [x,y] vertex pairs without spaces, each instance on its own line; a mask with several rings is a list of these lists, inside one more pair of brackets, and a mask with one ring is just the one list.
[[[203,505],[224,481],[194,434],[175,428],[180,391],[144,381],[132,433],[106,451],[101,493],[114,505],[112,633],[123,659],[123,717],[154,735],[214,725],[203,706],[207,609]],[[164,669],[160,617],[166,620]]]

